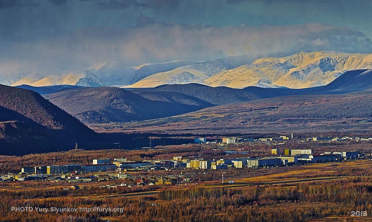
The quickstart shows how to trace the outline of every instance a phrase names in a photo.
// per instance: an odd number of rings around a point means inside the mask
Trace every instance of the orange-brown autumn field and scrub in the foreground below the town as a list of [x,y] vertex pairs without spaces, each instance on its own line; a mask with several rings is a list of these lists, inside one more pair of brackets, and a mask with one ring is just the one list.
[[[370,160],[261,169],[229,170],[226,180],[192,182],[142,191],[97,188],[63,190],[58,183],[9,183],[0,187],[1,221],[370,221]],[[353,173],[357,172],[357,173]],[[186,172],[184,172],[186,173]],[[306,179],[301,179],[304,175]],[[343,176],[339,176],[339,175]],[[362,174],[364,174],[362,176]],[[324,176],[326,175],[326,176]],[[338,176],[335,176],[338,175]],[[367,176],[368,175],[368,176]],[[30,182],[31,183],[31,182]],[[102,184],[101,184],[102,185]],[[19,198],[21,197],[21,198]],[[15,212],[12,206],[111,208],[122,212]],[[352,216],[366,211],[366,216]],[[89,219],[88,219],[89,218]]]

